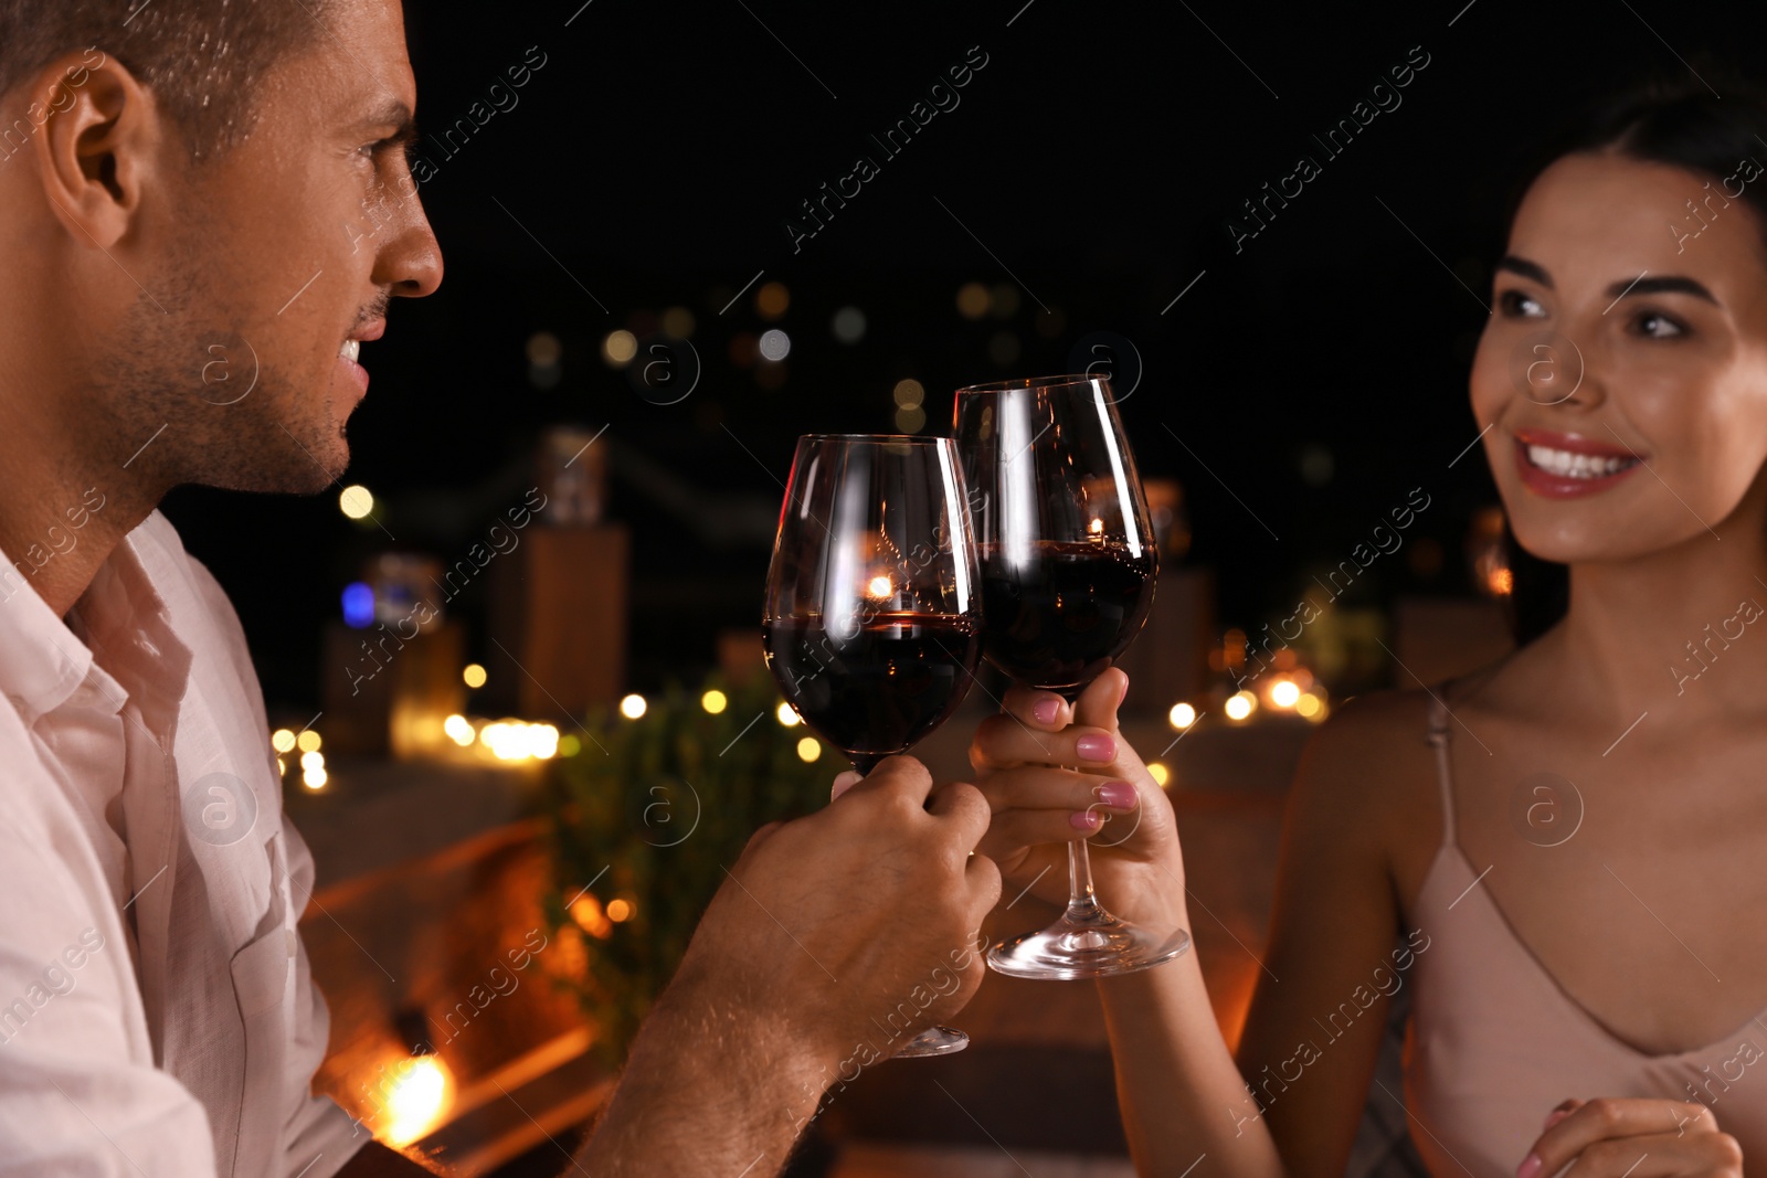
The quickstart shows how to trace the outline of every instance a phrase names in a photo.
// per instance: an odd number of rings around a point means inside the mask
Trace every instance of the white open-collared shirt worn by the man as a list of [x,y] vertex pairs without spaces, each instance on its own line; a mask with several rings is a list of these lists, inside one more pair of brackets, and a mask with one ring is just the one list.
[[226,593],[159,512],[67,623],[0,560],[0,1176],[334,1174],[368,1132],[311,1095],[313,858]]

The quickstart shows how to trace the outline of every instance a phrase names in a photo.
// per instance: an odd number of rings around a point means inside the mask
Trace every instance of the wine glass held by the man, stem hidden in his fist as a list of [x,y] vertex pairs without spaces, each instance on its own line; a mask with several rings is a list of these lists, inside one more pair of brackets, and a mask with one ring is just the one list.
[[[951,438],[799,438],[763,643],[785,698],[861,774],[945,722],[981,664],[975,540]],[[935,1026],[896,1054],[968,1042]]]

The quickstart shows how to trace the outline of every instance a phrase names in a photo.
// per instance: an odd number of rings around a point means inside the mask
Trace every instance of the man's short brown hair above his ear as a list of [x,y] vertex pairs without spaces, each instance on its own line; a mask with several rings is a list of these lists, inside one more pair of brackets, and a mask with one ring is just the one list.
[[325,0],[0,0],[0,95],[64,53],[122,62],[184,134],[193,159],[249,129],[258,83],[332,35]]

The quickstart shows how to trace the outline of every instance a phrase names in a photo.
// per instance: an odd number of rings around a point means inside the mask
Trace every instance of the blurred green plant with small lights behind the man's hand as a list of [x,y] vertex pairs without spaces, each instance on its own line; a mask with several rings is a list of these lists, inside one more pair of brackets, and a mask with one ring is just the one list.
[[562,759],[544,804],[555,872],[546,915],[587,947],[562,984],[578,993],[595,1049],[615,1069],[749,835],[823,805],[846,768],[829,745],[804,759],[809,729],[767,675],[700,692],[671,685],[627,715],[588,717],[601,747],[585,740]]

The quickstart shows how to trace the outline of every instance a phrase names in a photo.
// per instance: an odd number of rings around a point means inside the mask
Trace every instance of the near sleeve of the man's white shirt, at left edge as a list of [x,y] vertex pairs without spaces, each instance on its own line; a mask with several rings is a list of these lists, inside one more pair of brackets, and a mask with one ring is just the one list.
[[19,804],[0,821],[0,1176],[212,1178],[209,1116],[152,1065],[129,940],[78,821],[58,821],[53,782],[5,777]]

